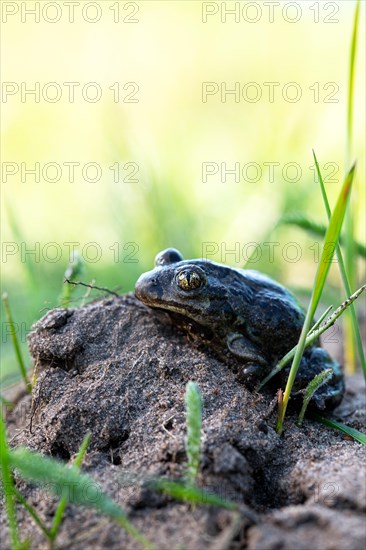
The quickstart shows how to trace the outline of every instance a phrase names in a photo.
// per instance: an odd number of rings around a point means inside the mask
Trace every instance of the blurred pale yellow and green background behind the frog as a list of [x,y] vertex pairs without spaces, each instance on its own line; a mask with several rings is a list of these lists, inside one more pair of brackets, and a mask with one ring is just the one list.
[[[186,258],[198,257],[213,243],[210,259],[263,270],[306,302],[321,239],[278,222],[301,214],[326,223],[312,148],[332,205],[348,167],[355,2],[279,2],[272,22],[264,2],[226,2],[240,8],[226,21],[221,2],[81,0],[73,22],[63,2],[48,3],[44,12],[46,3],[39,2],[36,21],[27,11],[35,4],[2,3],[2,291],[9,294],[23,353],[31,324],[60,303],[67,243],[78,243],[84,259],[80,280],[120,292],[133,289],[159,250],[174,246]],[[365,228],[364,11],[363,5],[352,146],[359,240]],[[73,102],[65,82],[77,83]],[[206,101],[205,82],[218,90]],[[235,83],[239,98],[221,95]],[[37,86],[39,98],[25,93]],[[95,90],[101,91],[97,101]],[[299,90],[301,97],[291,101]],[[25,173],[36,163],[39,181]],[[48,163],[59,168],[42,173]],[[79,163],[73,181],[65,163]],[[204,178],[204,163],[217,173]],[[240,163],[244,175],[235,181],[227,174],[225,181],[222,163],[227,169]],[[269,163],[276,163],[273,177]],[[268,242],[278,243],[274,257]],[[248,263],[249,243],[259,252]],[[228,253],[233,249],[236,254]],[[360,278],[363,273],[360,264]],[[335,264],[325,300],[339,303],[340,289]],[[75,305],[84,294],[74,294]],[[18,373],[4,318],[1,348],[8,385]]]

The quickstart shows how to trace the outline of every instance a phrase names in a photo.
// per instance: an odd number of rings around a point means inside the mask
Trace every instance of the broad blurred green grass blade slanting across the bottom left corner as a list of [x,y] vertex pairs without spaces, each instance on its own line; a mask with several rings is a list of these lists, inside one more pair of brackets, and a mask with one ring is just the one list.
[[61,495],[61,498],[66,498],[70,504],[94,508],[111,517],[143,548],[152,548],[151,543],[127,519],[125,511],[102,492],[93,478],[81,474],[76,466],[67,466],[25,448],[11,451],[9,460],[24,479],[41,485],[47,484],[50,490]]

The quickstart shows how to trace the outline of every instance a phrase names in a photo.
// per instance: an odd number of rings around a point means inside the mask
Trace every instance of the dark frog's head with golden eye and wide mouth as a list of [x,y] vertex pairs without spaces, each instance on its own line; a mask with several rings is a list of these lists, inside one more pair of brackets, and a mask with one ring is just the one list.
[[225,266],[202,259],[184,261],[174,248],[160,252],[155,266],[135,286],[135,295],[144,304],[210,326],[230,314]]

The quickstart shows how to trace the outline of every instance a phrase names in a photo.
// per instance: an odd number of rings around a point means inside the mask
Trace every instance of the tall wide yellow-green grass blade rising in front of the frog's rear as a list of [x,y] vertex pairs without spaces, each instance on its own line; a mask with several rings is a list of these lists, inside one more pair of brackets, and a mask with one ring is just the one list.
[[335,246],[338,242],[338,237],[342,229],[342,223],[344,214],[346,211],[347,203],[349,194],[352,188],[352,182],[353,182],[353,176],[354,176],[355,166],[352,166],[351,170],[349,171],[342,189],[339,193],[338,200],[334,209],[334,212],[331,216],[329,227],[325,236],[325,242],[323,245],[323,250],[320,258],[320,263],[316,272],[313,291],[310,299],[310,304],[306,313],[304,325],[302,327],[302,331],[300,334],[300,339],[297,345],[295,357],[291,366],[290,374],[287,380],[285,392],[283,395],[283,409],[282,414],[279,417],[277,424],[276,424],[276,430],[278,433],[282,433],[283,429],[283,419],[285,417],[288,401],[290,398],[292,386],[294,384],[297,371],[300,366],[300,361],[302,358],[302,354],[305,349],[306,345],[306,338],[308,335],[308,332],[311,327],[311,322],[314,317],[315,310],[317,308],[317,305],[319,303],[325,280],[328,275],[328,271],[330,268],[331,260],[334,254]]

